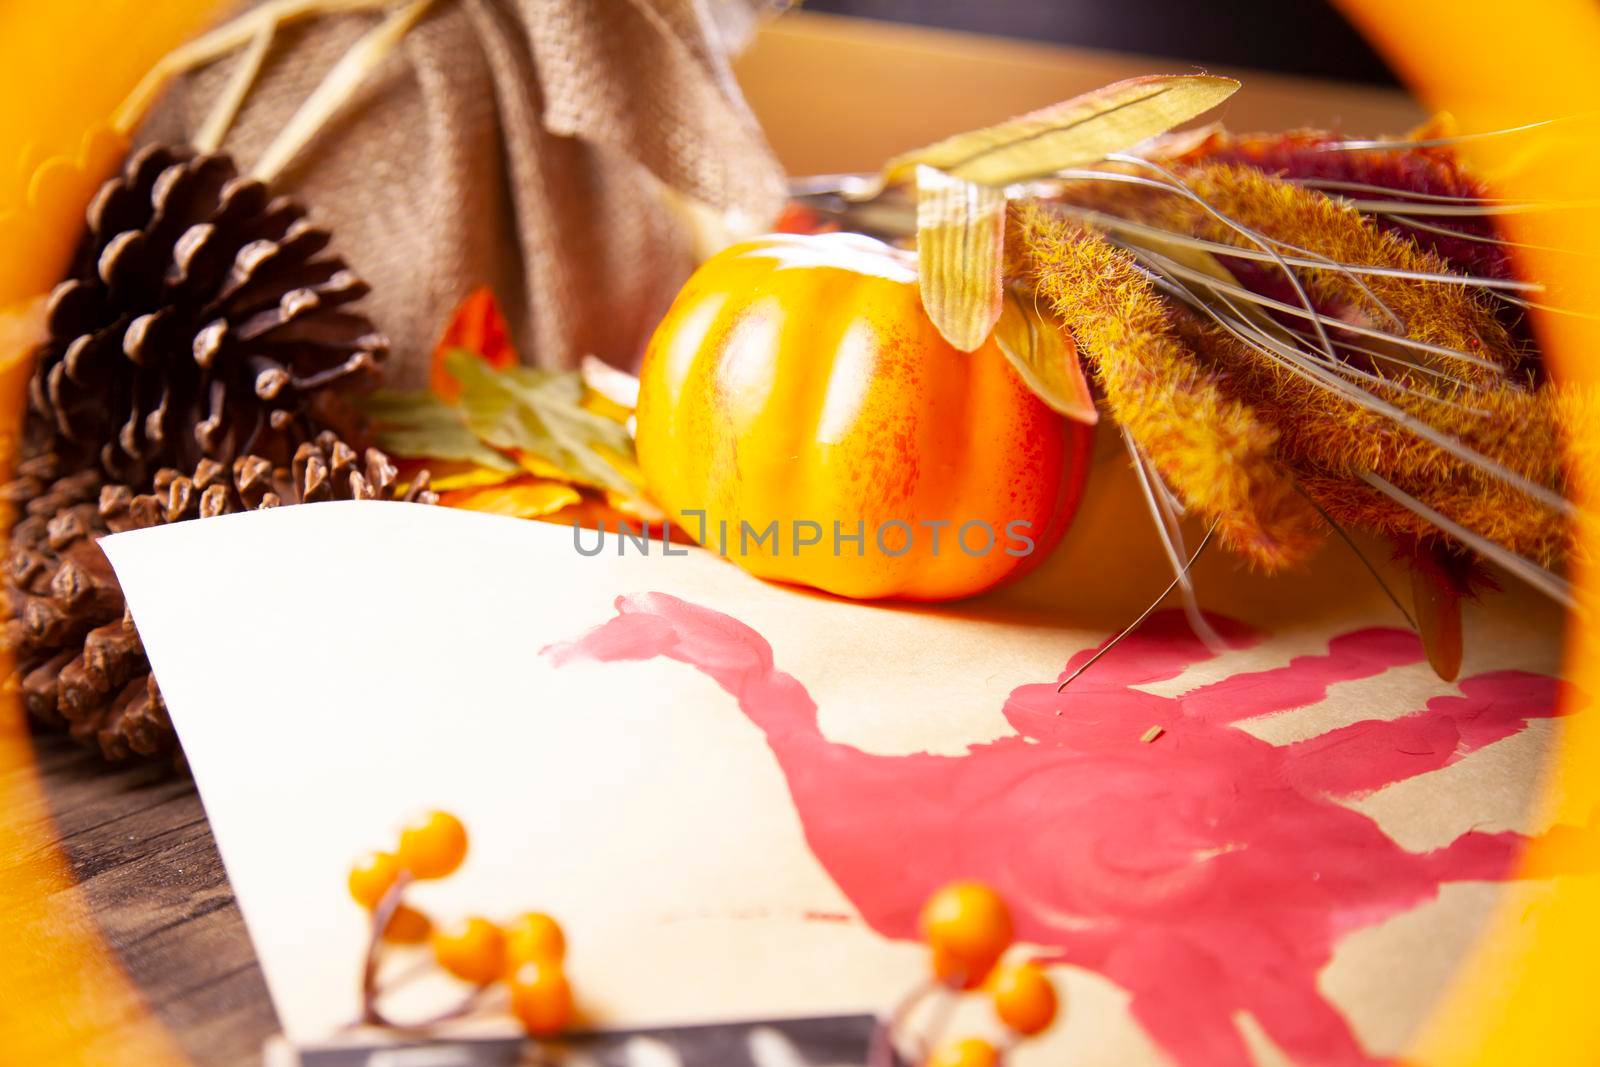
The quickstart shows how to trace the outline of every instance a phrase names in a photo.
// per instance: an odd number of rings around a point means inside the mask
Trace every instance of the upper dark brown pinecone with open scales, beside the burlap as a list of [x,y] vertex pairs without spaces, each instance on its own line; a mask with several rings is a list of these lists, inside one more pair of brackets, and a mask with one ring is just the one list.
[[144,485],[200,459],[286,462],[326,422],[314,398],[387,354],[328,232],[226,155],[144,147],[86,219],[29,387],[70,466]]

